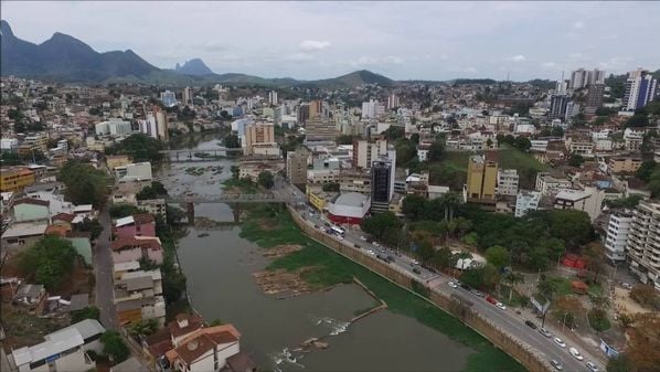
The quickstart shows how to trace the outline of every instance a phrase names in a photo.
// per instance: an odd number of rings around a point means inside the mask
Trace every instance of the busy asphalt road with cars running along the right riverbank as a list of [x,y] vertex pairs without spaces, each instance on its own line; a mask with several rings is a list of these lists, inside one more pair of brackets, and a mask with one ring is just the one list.
[[[275,188],[273,192],[280,194],[290,193],[291,195],[304,195],[304,193],[300,190],[286,183],[280,178],[275,180]],[[296,210],[307,221],[307,223],[309,223],[310,225],[319,226],[320,231],[326,231],[326,220],[320,216],[318,211],[313,211],[308,204],[306,204],[305,206],[298,205]],[[360,230],[347,230],[342,243],[351,247],[358,245],[360,247],[359,251],[366,255],[370,255],[368,253],[369,251],[379,253],[379,248],[361,240],[362,235],[363,233],[361,233]],[[386,252],[385,254],[391,254],[391,252]],[[375,255],[370,256],[372,256],[373,259],[377,259]],[[589,371],[585,364],[586,361],[595,362],[596,364],[598,364],[600,371],[605,371],[605,359],[604,357],[602,357],[599,350],[584,350],[582,348],[576,348],[584,357],[584,361],[578,361],[568,352],[568,349],[573,346],[566,341],[567,338],[561,334],[560,330],[551,330],[553,332],[553,336],[551,338],[546,338],[545,336],[541,334],[537,330],[534,330],[526,326],[524,322],[526,319],[524,319],[523,316],[517,315],[514,310],[501,310],[492,304],[486,301],[483,298],[472,295],[467,289],[464,289],[461,287],[454,289],[449,287],[448,281],[451,280],[451,278],[446,275],[437,275],[424,268],[421,268],[419,275],[415,274],[413,272],[413,266],[411,265],[413,263],[413,258],[407,257],[406,255],[402,255],[401,257],[396,255],[393,256],[395,257],[395,261],[391,264],[392,267],[397,268],[405,275],[427,285],[430,290],[444,293],[445,295],[449,296],[451,294],[455,294],[459,298],[469,300],[473,304],[471,308],[478,311],[479,313],[483,315],[491,322],[505,330],[510,334],[514,334],[522,342],[539,350],[541,353],[547,357],[547,360],[554,359],[560,361],[564,366],[564,371]],[[540,326],[540,322],[536,321],[536,319],[530,320]],[[555,344],[553,341],[554,337],[558,337],[562,340],[564,340],[566,342],[566,347],[561,348],[557,344]]]

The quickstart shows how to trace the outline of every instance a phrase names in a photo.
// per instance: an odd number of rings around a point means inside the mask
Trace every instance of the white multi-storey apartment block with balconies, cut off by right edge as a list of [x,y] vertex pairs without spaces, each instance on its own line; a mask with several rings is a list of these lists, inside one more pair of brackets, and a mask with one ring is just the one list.
[[660,203],[640,201],[628,231],[630,272],[660,291]]

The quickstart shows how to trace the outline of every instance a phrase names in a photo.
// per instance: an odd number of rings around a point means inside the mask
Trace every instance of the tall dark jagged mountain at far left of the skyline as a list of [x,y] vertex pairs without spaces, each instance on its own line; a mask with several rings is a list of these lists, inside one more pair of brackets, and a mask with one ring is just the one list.
[[158,71],[131,50],[98,53],[84,42],[55,32],[41,44],[17,38],[0,21],[0,73],[68,82],[100,82]]

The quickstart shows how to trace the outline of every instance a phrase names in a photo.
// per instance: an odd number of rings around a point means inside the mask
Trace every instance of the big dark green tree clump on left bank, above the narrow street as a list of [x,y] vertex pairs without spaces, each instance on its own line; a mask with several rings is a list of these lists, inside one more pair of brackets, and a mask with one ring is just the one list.
[[60,169],[57,180],[66,184],[66,198],[74,204],[105,205],[108,199],[107,176],[88,163],[70,160]]

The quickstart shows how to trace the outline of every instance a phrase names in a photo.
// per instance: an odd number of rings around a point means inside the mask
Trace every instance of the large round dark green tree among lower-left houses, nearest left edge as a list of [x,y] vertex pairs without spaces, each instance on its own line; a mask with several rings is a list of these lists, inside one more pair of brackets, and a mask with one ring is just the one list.
[[71,242],[47,235],[22,254],[19,265],[28,278],[56,290],[73,272],[76,256]]

